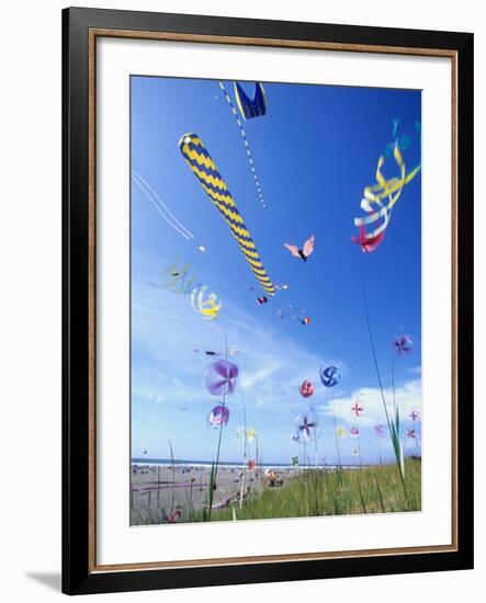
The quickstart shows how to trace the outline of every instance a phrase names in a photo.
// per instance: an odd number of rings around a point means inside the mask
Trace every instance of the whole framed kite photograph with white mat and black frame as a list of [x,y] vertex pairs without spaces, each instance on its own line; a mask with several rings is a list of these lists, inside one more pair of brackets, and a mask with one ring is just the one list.
[[69,594],[473,566],[473,35],[66,9]]

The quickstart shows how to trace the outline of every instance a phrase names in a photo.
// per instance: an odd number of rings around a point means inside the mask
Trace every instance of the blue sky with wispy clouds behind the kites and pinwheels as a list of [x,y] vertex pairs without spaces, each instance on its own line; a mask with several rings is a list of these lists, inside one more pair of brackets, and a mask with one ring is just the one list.
[[[233,82],[225,82],[233,96]],[[244,84],[252,92],[250,84]],[[362,253],[351,242],[353,218],[362,215],[364,186],[375,180],[376,162],[400,132],[415,134],[420,121],[419,91],[301,84],[265,84],[268,113],[244,123],[267,208],[258,200],[236,121],[213,80],[132,77],[132,169],[148,182],[194,239],[187,240],[162,218],[132,181],[132,454],[210,460],[217,431],[206,417],[217,398],[205,388],[212,360],[200,350],[228,346],[240,376],[227,405],[222,458],[238,460],[241,446],[233,434],[242,424],[259,434],[264,462],[286,463],[295,417],[312,402],[318,416],[319,462],[335,462],[329,390],[319,368],[335,364],[342,380],[334,388],[338,424],[354,425],[351,403],[364,405],[360,446],[364,462],[377,458],[373,425],[384,423],[372,364],[360,270]],[[195,133],[216,162],[275,283],[287,283],[263,306],[262,295],[227,225],[185,164],[180,137]],[[419,145],[404,151],[407,166],[419,161]],[[384,171],[397,175],[393,159]],[[396,395],[402,414],[420,409],[420,178],[404,189],[381,247],[366,254],[364,271],[375,344],[385,388],[391,387],[393,340],[416,341],[411,354],[396,361]],[[304,263],[284,242],[302,244],[316,236]],[[203,246],[206,251],[199,251]],[[223,303],[221,318],[207,322],[183,295],[161,286],[169,266],[189,264],[197,283]],[[255,291],[251,291],[253,287]],[[312,322],[282,320],[276,309],[295,305]],[[282,327],[285,331],[282,331]],[[298,386],[315,385],[304,400]],[[391,400],[391,391],[385,391]],[[405,443],[414,452],[415,443]],[[382,454],[392,457],[387,439]],[[314,451],[314,444],[310,445]],[[351,462],[351,441],[341,442]],[[301,448],[302,453],[302,448]],[[313,452],[314,454],[314,452]]]

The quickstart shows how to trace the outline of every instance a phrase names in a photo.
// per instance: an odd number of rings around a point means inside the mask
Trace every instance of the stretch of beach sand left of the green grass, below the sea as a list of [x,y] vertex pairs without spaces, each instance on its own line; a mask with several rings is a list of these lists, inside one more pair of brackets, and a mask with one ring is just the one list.
[[[283,479],[283,487],[295,475],[294,469],[275,468]],[[242,467],[219,466],[213,507],[228,499],[239,500],[242,485]],[[163,523],[174,510],[181,515],[176,521],[184,522],[193,512],[199,513],[208,502],[211,467],[174,465],[133,465],[131,475],[131,524]],[[246,469],[244,491],[246,496],[268,487],[263,470]],[[248,490],[248,488],[250,490]],[[167,520],[166,520],[167,521]]]

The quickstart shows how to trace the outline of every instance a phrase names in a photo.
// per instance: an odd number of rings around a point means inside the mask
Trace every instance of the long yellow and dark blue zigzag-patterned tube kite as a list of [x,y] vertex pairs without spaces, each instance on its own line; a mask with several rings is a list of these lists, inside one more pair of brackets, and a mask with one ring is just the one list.
[[185,162],[201,182],[202,187],[225,218],[241,253],[245,255],[255,276],[259,280],[263,291],[268,295],[274,295],[275,286],[270,281],[253,239],[248,232],[226,182],[217,171],[216,164],[204,147],[203,141],[196,134],[184,134],[179,141],[179,149]]

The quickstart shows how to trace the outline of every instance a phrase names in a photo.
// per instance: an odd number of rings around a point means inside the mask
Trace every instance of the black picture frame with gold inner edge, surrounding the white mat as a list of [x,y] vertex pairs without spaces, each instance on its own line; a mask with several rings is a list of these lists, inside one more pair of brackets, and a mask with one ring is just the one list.
[[[90,364],[89,32],[162,32],[443,50],[455,56],[456,174],[456,546],[415,554],[108,569],[90,561],[90,451],[94,418]],[[473,567],[473,34],[70,8],[63,11],[63,592],[67,594],[312,580]],[[91,174],[92,178],[93,174]],[[91,257],[92,260],[92,257]],[[91,368],[90,368],[91,366]]]

